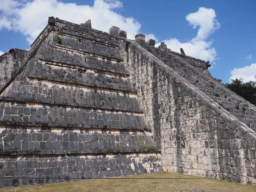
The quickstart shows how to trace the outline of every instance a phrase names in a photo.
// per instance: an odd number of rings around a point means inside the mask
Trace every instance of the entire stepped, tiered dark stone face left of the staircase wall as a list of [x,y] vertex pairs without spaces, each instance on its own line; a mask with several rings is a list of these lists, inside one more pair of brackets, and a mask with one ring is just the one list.
[[118,46],[63,20],[45,28],[0,96],[0,187],[164,171]]

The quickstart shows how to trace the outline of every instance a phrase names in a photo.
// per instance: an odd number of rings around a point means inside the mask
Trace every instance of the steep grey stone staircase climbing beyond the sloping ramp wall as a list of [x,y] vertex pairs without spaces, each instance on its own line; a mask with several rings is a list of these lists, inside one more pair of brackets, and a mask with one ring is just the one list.
[[195,67],[189,64],[185,59],[183,62],[175,61],[177,55],[172,53],[163,53],[160,49],[141,44],[151,53],[155,53],[161,61],[171,67],[176,73],[209,96],[214,102],[218,103],[225,110],[238,118],[245,125],[256,131],[256,107],[237,96],[227,89],[221,82],[214,79],[204,68]]

